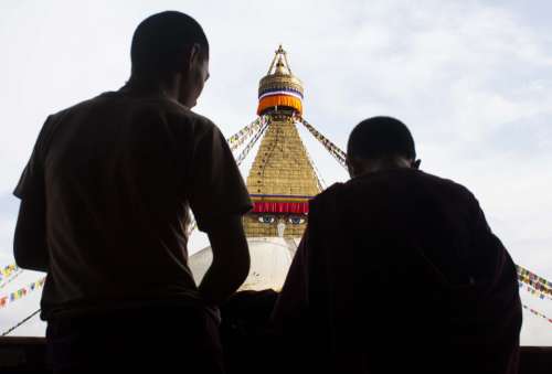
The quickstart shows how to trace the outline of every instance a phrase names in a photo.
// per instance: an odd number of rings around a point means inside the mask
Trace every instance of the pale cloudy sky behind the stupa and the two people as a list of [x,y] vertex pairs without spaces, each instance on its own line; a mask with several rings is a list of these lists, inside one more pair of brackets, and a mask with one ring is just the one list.
[[[46,116],[119,88],[136,25],[155,12],[194,17],[211,44],[195,111],[231,136],[255,119],[258,79],[279,43],[305,84],[305,117],[344,148],[362,119],[412,130],[422,169],[466,185],[517,264],[552,279],[552,3],[542,1],[31,1],[0,4],[0,266],[13,263],[11,195]],[[347,174],[306,131],[327,185]],[[247,173],[245,162],[242,171]],[[208,245],[194,234],[191,252]],[[0,295],[40,278],[28,271]],[[521,291],[552,316],[552,300]],[[40,292],[0,309],[6,330]],[[405,306],[407,314],[407,307]],[[14,334],[43,335],[38,318]],[[521,343],[552,345],[552,323],[524,314]]]

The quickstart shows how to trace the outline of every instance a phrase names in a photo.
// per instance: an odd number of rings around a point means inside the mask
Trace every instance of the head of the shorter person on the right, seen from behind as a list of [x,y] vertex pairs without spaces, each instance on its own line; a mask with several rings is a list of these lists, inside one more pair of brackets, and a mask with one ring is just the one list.
[[415,168],[414,139],[408,128],[392,117],[372,117],[357,125],[347,143],[351,178],[388,168]]

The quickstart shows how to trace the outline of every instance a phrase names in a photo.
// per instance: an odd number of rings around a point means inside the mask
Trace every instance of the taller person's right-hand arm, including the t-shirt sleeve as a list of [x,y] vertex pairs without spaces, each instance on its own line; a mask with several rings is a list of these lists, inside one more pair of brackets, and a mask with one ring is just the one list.
[[200,130],[188,179],[190,207],[198,228],[209,235],[213,252],[199,289],[208,306],[219,306],[240,288],[250,271],[242,216],[252,203],[224,136],[209,122]]

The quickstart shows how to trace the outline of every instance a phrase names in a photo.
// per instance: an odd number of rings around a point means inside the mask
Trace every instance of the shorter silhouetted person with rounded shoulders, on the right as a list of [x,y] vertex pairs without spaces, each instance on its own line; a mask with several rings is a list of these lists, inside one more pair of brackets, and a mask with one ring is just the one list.
[[517,373],[516,269],[476,197],[420,171],[393,118],[359,124],[347,162],[351,180],[311,201],[274,311],[284,357],[312,373]]

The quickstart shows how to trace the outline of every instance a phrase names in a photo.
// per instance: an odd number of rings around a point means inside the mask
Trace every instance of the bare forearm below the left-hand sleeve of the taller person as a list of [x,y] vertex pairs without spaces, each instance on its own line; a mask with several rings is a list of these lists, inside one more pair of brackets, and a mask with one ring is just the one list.
[[13,238],[13,256],[19,267],[47,271],[44,195],[29,194],[21,200]]

